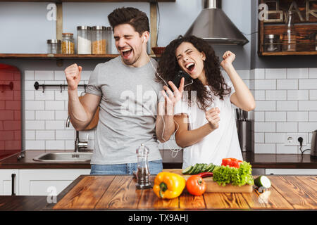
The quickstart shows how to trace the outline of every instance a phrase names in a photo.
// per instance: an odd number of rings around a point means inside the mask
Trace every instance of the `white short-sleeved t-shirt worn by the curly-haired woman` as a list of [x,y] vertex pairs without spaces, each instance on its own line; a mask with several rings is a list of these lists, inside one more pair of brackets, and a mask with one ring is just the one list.
[[[242,159],[239,139],[237,136],[237,127],[235,122],[235,110],[230,102],[230,96],[235,92],[232,82],[225,79],[226,84],[231,87],[230,94],[219,99],[219,96],[214,96],[213,104],[207,110],[218,107],[220,110],[219,127],[212,131],[204,139],[188,146],[183,150],[183,164],[185,169],[195,163],[213,163],[221,165],[223,158]],[[213,95],[209,86],[205,86],[209,90],[209,94]],[[185,113],[189,119],[189,130],[197,129],[208,123],[205,112],[198,108],[197,103],[188,105],[187,99],[182,99],[175,104],[174,115]]]

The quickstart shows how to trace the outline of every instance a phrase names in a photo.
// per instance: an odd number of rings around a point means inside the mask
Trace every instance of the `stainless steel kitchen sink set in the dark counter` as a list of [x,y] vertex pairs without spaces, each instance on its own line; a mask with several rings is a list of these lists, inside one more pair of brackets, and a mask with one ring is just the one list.
[[40,162],[89,162],[92,153],[44,153],[33,160]]

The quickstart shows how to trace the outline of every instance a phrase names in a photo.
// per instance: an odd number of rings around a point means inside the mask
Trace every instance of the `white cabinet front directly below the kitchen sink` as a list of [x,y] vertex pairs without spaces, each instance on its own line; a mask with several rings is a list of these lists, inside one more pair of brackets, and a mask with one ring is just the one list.
[[90,169],[20,169],[20,195],[58,195]]

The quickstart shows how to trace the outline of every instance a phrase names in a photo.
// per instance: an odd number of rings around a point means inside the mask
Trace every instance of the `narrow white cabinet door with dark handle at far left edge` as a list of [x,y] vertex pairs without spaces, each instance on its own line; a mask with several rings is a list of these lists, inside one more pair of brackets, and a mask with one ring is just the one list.
[[[15,174],[15,175],[13,175]],[[13,179],[13,182],[12,182]],[[18,169],[0,169],[0,195],[12,195],[13,192],[19,194],[19,170]]]

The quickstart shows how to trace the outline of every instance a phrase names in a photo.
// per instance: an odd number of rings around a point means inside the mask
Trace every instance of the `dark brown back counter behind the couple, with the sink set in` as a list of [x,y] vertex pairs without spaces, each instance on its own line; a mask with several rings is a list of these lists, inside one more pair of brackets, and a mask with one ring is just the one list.
[[[72,152],[73,150],[66,150]],[[25,150],[25,158],[17,159],[20,153],[0,161],[0,169],[90,169],[90,162],[37,162],[33,160],[42,153],[61,152],[61,150]],[[252,168],[317,169],[317,159],[309,154],[254,154],[242,153],[244,160]],[[164,169],[181,168],[182,162],[163,163]]]

